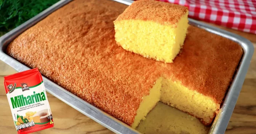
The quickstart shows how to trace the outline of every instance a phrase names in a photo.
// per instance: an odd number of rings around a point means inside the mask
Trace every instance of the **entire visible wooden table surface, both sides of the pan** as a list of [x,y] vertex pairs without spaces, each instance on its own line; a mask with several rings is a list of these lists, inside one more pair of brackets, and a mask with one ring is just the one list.
[[[226,29],[221,27],[222,29]],[[256,47],[256,35],[226,29],[237,33]],[[7,64],[0,61],[0,134],[16,134],[10,106],[8,104],[3,77],[16,73]],[[35,132],[34,134],[112,134],[109,129],[101,126],[74,108],[47,94],[54,115],[54,128]],[[226,134],[256,134],[256,53],[253,54],[242,91],[239,95],[232,117],[227,126]]]

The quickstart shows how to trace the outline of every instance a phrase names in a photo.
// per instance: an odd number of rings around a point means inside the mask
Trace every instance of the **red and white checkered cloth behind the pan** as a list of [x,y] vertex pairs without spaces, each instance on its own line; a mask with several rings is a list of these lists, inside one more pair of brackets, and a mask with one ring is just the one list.
[[189,17],[256,34],[256,0],[158,0],[187,6]]

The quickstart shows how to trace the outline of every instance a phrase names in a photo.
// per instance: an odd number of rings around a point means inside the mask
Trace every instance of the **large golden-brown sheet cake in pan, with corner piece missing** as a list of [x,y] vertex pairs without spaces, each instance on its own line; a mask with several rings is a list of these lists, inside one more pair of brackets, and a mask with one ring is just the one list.
[[115,41],[113,21],[126,7],[74,0],[19,35],[6,53],[133,128],[159,100],[210,124],[243,54],[240,45],[189,26],[174,63],[147,59]]

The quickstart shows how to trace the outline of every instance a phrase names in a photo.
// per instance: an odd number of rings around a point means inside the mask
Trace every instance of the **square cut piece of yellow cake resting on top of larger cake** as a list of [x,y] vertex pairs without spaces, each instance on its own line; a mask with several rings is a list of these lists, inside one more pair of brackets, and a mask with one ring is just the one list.
[[173,62],[186,37],[187,7],[155,0],[133,2],[114,21],[115,40],[128,51]]

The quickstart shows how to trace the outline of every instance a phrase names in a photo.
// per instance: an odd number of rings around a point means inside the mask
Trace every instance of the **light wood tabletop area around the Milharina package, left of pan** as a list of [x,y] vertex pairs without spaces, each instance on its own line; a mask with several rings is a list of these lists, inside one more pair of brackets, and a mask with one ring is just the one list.
[[[2,122],[0,134],[17,133],[3,85],[3,76],[16,72],[12,67],[0,61],[0,122]],[[33,134],[114,134],[51,94],[47,93],[47,97],[53,114],[54,127]]]

